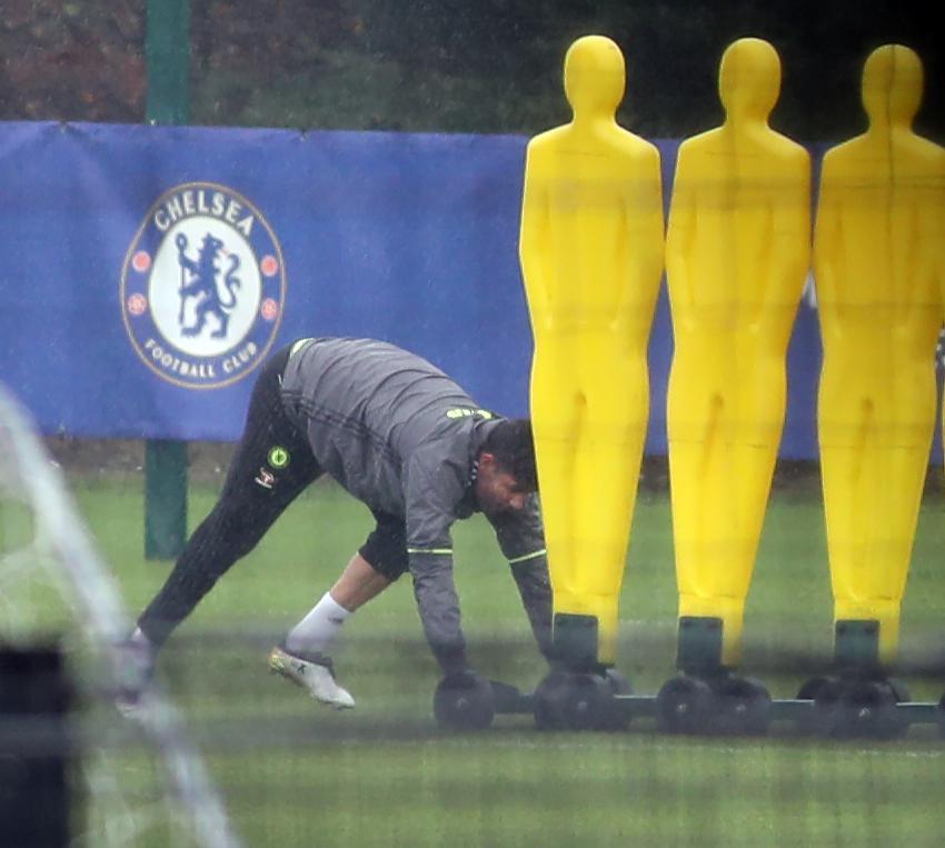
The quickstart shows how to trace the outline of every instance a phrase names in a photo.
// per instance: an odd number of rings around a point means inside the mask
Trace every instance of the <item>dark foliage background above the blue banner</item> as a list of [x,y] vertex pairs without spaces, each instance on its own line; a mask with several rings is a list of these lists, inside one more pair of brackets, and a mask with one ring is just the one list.
[[[718,60],[757,36],[782,56],[782,131],[862,131],[863,61],[897,41],[925,64],[917,129],[941,140],[936,17],[886,0],[192,0],[191,121],[530,134],[567,120],[561,59],[599,32],[627,58],[621,122],[686,136],[722,120]],[[145,0],[4,0],[0,119],[143,120],[145,21]]]

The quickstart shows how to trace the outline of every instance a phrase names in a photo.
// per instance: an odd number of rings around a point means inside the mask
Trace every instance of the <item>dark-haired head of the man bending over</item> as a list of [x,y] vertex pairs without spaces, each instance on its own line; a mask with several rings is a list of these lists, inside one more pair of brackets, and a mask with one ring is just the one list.
[[531,421],[500,420],[479,450],[476,499],[484,512],[519,510],[538,490]]

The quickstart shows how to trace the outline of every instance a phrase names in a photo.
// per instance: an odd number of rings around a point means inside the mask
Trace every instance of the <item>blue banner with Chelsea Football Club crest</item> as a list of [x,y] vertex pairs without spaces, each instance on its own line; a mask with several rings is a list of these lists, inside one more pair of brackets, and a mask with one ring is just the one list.
[[[0,380],[43,432],[231,441],[255,369],[302,336],[369,336],[525,415],[527,139],[0,123]],[[658,142],[664,196],[677,142]],[[673,341],[653,327],[647,450]],[[817,456],[820,347],[799,308],[782,456]]]

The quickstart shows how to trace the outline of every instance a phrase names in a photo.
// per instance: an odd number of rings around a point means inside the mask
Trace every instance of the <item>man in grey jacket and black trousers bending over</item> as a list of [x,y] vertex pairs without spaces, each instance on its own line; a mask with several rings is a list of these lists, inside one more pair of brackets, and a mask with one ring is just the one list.
[[[550,656],[551,588],[535,492],[531,426],[479,409],[439,369],[369,339],[301,339],[273,355],[252,391],[220,498],[130,649],[149,670],[171,631],[314,480],[329,475],[377,526],[335,585],[272,649],[273,671],[342,709],[331,649],[345,620],[410,572],[424,631],[445,676],[468,667],[452,579],[454,521],[484,512],[508,559],[539,649]],[[133,710],[140,691],[119,706]]]

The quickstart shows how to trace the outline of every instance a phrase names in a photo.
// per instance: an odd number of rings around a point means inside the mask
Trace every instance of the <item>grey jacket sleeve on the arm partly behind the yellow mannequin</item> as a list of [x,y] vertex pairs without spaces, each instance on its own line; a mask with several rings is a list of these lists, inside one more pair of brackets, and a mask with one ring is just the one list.
[[528,506],[520,512],[494,516],[490,521],[518,586],[538,649],[550,662],[554,593],[538,499],[533,495]]

